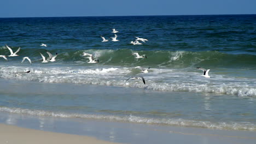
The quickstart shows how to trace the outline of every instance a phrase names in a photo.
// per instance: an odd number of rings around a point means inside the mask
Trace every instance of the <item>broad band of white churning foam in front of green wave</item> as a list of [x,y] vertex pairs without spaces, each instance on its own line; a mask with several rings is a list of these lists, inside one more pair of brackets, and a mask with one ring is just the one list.
[[[30,74],[22,71],[31,70]],[[153,89],[154,91],[173,92],[204,92],[238,95],[241,97],[255,97],[256,88],[253,79],[224,78],[211,75],[213,78],[205,79],[198,73],[183,72],[172,69],[150,69],[144,74],[146,85],[141,81],[127,81],[132,68],[69,68],[49,67],[31,69],[23,67],[0,68],[0,77],[5,79],[18,79],[49,83],[85,83],[92,85],[138,87]],[[10,74],[10,73],[12,74]],[[19,76],[15,77],[15,74]]]

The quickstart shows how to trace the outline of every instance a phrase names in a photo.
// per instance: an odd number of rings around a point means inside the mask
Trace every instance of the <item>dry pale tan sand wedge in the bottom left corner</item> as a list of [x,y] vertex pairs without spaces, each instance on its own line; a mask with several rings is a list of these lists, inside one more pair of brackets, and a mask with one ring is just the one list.
[[16,127],[14,125],[0,124],[0,143],[12,143],[12,144],[30,144],[30,143],[103,143],[110,144],[113,142],[107,142],[97,140],[94,137],[71,135],[63,133],[53,133],[49,131],[41,131],[34,129],[27,129]]

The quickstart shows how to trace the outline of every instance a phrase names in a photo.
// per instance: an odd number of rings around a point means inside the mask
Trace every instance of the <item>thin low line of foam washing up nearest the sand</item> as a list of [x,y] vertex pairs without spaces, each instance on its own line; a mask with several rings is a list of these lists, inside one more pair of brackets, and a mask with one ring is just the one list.
[[207,122],[207,121],[194,121],[182,118],[147,118],[139,116],[114,116],[114,115],[88,115],[82,113],[64,113],[64,112],[50,112],[43,110],[29,110],[20,108],[0,107],[1,112],[18,113],[21,115],[34,115],[34,116],[50,116],[61,118],[91,118],[101,119],[106,121],[118,122],[132,122],[132,123],[147,123],[147,124],[167,124],[173,126],[183,127],[200,127],[211,129],[228,129],[228,130],[256,130],[256,125],[249,122]]

